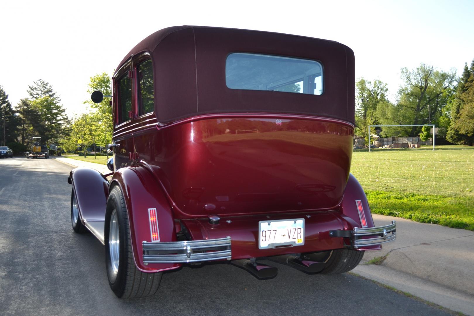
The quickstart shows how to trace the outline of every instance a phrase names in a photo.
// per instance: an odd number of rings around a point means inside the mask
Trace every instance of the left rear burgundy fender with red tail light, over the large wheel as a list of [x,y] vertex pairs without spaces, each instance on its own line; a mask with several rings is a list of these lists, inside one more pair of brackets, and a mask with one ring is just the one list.
[[143,272],[179,268],[181,266],[179,263],[143,262],[142,242],[152,241],[148,209],[156,208],[159,241],[176,241],[173,212],[155,177],[145,166],[121,168],[114,173],[110,190],[116,185],[122,190],[127,205],[133,257],[137,268]]

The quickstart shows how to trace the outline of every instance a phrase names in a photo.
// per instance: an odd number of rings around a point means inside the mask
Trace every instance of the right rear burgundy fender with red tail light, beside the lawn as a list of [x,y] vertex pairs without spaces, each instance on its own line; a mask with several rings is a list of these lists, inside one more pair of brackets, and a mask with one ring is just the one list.
[[[372,218],[372,213],[370,212],[369,203],[365,192],[362,189],[359,181],[351,174],[349,174],[349,180],[346,184],[346,190],[344,191],[344,198],[341,203],[341,217],[344,218],[345,223],[343,223],[344,230],[353,230],[355,227],[362,228],[361,219],[359,217],[359,212],[357,211],[356,200],[362,202],[362,208],[364,209],[365,220],[367,222],[367,227],[375,227],[374,219]],[[380,245],[367,246],[363,249],[357,250],[375,250],[381,249]]]

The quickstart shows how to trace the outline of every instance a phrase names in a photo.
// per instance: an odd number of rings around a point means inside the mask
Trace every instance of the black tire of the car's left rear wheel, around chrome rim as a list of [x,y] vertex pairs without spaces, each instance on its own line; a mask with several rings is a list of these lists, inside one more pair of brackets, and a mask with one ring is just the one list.
[[[112,217],[113,216],[113,217]],[[111,223],[110,219],[113,219]],[[112,234],[110,227],[112,226]],[[114,230],[118,227],[118,262],[117,271],[112,264],[114,255]],[[110,289],[119,298],[141,298],[154,295],[161,282],[162,272],[146,273],[137,269],[133,259],[130,226],[128,222],[127,206],[122,191],[118,186],[110,190],[105,213],[105,266],[109,279]],[[116,237],[115,237],[116,238]],[[112,249],[112,250],[111,250]],[[112,251],[112,255],[111,255]],[[116,253],[116,252],[115,252]]]

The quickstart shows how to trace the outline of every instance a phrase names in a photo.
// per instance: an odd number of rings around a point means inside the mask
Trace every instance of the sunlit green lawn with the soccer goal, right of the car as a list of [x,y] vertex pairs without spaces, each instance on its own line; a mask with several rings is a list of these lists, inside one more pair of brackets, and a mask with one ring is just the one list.
[[474,147],[355,151],[373,213],[474,230]]

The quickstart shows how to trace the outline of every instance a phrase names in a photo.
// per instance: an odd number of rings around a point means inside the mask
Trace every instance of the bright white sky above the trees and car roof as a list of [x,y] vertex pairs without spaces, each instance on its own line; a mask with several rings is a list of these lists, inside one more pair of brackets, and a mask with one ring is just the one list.
[[[8,2],[7,2],[8,1]],[[335,40],[356,54],[356,78],[400,87],[421,62],[460,75],[474,59],[474,1],[2,1],[0,85],[15,106],[48,81],[69,116],[90,77],[110,74],[151,33],[176,25],[235,27]]]

